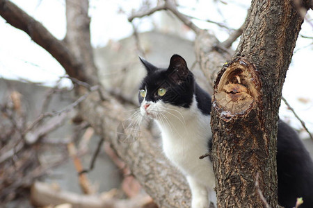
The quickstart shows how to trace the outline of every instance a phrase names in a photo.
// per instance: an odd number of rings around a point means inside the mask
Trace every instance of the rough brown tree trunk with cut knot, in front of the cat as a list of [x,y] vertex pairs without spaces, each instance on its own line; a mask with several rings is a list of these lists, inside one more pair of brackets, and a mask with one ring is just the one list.
[[302,22],[292,1],[252,1],[234,58],[218,73],[211,112],[218,207],[278,207],[278,108]]

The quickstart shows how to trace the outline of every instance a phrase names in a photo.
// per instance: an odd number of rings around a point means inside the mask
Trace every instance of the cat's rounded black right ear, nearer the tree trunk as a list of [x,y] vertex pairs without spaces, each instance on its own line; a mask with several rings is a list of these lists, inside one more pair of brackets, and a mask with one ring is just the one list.
[[182,56],[174,54],[170,58],[170,66],[168,67],[168,76],[177,84],[182,83],[188,76],[189,69],[187,63]]

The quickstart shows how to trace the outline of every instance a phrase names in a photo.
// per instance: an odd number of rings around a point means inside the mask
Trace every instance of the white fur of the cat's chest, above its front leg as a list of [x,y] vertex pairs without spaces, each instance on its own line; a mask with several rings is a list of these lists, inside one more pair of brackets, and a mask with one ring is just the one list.
[[208,152],[211,138],[210,116],[197,107],[195,98],[190,108],[170,105],[166,119],[156,120],[161,130],[163,151],[173,164],[186,176],[214,187],[214,173],[208,157],[199,159]]

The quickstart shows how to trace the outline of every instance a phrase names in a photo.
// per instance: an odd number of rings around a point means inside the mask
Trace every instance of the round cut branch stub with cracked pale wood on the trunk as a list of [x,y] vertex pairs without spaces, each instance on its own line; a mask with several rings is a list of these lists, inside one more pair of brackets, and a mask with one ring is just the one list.
[[218,73],[212,97],[213,107],[223,121],[244,116],[255,107],[260,98],[257,71],[246,58],[226,63]]

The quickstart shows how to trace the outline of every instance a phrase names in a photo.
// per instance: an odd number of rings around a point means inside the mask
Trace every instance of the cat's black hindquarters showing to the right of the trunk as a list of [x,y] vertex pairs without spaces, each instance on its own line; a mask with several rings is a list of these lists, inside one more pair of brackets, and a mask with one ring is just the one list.
[[287,123],[278,123],[278,202],[295,207],[296,198],[303,198],[300,208],[313,207],[313,164],[298,134]]

